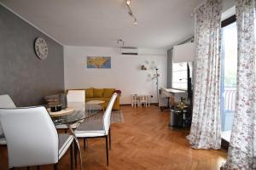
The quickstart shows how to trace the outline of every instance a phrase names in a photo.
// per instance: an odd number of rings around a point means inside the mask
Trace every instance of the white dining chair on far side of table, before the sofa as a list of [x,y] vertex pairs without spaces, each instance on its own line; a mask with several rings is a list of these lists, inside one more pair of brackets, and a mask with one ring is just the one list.
[[[73,107],[75,111],[85,112],[85,91],[84,90],[68,90],[67,91],[67,107]],[[81,121],[82,122],[82,121]],[[71,125],[73,129],[77,128],[81,122],[75,122]],[[67,133],[67,125],[57,125],[56,128],[64,129]]]

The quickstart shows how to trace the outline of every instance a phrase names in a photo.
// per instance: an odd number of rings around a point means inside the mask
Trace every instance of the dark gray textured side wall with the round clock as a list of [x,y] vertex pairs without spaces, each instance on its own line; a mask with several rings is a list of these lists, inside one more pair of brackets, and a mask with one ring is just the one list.
[[[48,58],[38,59],[33,44],[43,37]],[[17,106],[44,104],[43,97],[64,91],[63,47],[0,4],[0,94]]]

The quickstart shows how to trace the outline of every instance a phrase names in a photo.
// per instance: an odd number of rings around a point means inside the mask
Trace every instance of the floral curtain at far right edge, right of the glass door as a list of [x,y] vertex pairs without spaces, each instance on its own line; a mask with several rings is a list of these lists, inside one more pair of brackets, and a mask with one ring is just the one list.
[[256,169],[255,0],[236,0],[237,97],[229,155],[222,169]]

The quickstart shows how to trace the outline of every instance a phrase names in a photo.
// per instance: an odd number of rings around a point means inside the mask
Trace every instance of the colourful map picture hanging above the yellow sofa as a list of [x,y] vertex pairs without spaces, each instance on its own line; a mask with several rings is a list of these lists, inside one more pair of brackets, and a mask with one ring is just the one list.
[[110,69],[111,68],[111,57],[88,56],[87,57],[87,68]]

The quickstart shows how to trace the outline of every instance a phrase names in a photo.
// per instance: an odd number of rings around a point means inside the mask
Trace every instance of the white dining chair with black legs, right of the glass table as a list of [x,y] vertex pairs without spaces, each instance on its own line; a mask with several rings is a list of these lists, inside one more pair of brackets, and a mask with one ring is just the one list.
[[109,136],[109,149],[111,150],[111,133],[110,121],[113,103],[117,98],[114,93],[109,100],[108,107],[104,112],[102,119],[96,121],[82,122],[79,127],[74,131],[77,138],[90,139],[90,138],[105,138],[106,139],[106,155],[108,164],[108,136]]

